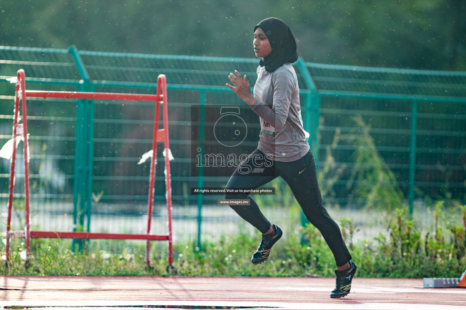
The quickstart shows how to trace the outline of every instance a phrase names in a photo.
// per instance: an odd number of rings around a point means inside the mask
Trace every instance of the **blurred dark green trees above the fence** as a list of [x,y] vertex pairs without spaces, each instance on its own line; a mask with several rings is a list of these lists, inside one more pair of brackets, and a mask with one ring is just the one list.
[[462,0],[0,0],[0,45],[254,57],[254,26],[271,16],[306,61],[466,70]]

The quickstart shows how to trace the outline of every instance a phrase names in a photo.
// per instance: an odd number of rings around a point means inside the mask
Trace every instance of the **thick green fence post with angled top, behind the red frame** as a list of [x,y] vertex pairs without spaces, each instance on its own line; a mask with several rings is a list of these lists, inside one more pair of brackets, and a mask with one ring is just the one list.
[[[78,86],[78,91],[86,92],[89,91],[89,74],[84,67],[81,57],[79,56],[76,46],[69,47],[69,53],[75,61],[76,68],[80,74],[82,80]],[[73,210],[73,221],[75,227],[73,231],[84,231],[84,216],[87,216],[87,231],[90,229],[90,198],[89,187],[92,187],[92,170],[89,168],[89,163],[92,167],[92,154],[89,160],[89,151],[92,150],[90,144],[92,139],[89,136],[93,136],[93,132],[89,132],[89,114],[90,100],[78,99],[76,108],[76,138],[75,138],[75,180],[74,180],[74,210]],[[93,115],[90,115],[93,119]],[[79,224],[78,224],[79,223]],[[73,240],[73,249],[76,245],[79,250],[82,250],[82,240]]]

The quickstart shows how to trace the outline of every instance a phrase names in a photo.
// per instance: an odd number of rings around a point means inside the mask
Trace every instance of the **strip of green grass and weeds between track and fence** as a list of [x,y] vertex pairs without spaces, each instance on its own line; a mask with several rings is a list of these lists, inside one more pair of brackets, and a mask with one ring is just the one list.
[[[405,209],[387,218],[388,236],[352,244],[350,218],[341,220],[343,236],[358,266],[358,277],[459,277],[466,268],[466,206],[445,210],[438,203],[435,227],[421,231]],[[166,276],[166,243],[152,242],[151,270],[145,268],[145,246],[128,241],[91,241],[81,252],[71,250],[70,240],[33,239],[30,267],[21,259],[24,240],[12,244],[11,265],[0,265],[4,275],[72,276]],[[335,261],[311,225],[302,236],[291,236],[274,246],[269,259],[253,265],[250,258],[260,242],[260,233],[222,236],[204,242],[202,251],[190,244],[174,245],[174,266],[181,276],[311,276],[334,277]],[[1,249],[5,255],[5,248]]]

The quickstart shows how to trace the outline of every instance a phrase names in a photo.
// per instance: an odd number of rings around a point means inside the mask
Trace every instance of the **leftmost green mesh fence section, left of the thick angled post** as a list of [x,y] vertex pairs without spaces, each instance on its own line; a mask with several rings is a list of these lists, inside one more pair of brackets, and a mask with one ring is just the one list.
[[[68,50],[0,49],[0,145],[12,138],[14,87],[7,78],[23,68],[27,87],[35,90],[77,91],[80,77]],[[76,100],[27,100],[30,147],[30,202],[32,228],[50,223],[57,229],[72,229],[75,165]],[[20,110],[20,116],[22,111]],[[16,161],[14,229],[21,230],[24,214],[19,198],[24,199],[22,142]],[[1,158],[1,212],[6,223],[10,161]],[[68,214],[68,217],[64,217]]]

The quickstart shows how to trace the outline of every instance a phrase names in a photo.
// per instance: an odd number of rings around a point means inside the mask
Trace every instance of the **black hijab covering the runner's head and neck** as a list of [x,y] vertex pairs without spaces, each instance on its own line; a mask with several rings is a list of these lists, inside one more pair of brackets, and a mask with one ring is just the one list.
[[264,31],[272,47],[272,52],[267,57],[261,58],[259,62],[261,67],[265,66],[267,72],[274,72],[284,63],[293,63],[298,59],[295,37],[283,20],[270,17],[257,24],[254,31],[257,27]]

